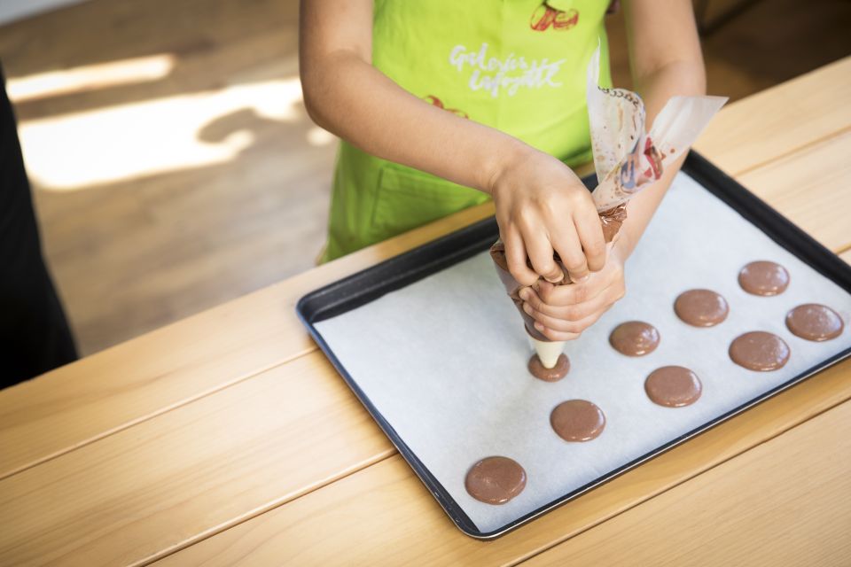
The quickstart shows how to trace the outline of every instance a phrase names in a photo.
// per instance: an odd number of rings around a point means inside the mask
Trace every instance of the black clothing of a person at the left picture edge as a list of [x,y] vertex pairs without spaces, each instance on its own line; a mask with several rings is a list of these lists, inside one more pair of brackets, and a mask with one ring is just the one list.
[[0,388],[77,358],[47,272],[0,67]]

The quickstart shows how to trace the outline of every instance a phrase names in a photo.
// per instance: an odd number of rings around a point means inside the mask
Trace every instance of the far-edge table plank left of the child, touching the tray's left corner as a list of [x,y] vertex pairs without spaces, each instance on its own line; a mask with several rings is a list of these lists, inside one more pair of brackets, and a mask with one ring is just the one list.
[[0,478],[316,350],[295,316],[303,294],[490,214],[468,209],[5,389]]

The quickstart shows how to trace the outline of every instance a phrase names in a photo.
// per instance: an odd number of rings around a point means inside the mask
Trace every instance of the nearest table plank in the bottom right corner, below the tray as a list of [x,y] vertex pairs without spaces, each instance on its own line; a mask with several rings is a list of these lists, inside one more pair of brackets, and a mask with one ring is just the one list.
[[848,423],[851,402],[524,565],[847,565]]

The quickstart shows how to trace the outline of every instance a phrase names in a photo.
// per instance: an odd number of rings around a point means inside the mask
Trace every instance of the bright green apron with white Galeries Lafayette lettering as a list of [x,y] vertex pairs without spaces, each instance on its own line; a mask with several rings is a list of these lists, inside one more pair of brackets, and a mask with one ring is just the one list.
[[[569,166],[590,161],[585,69],[608,0],[375,0],[372,65],[447,112]],[[340,143],[322,261],[488,200],[478,190]]]

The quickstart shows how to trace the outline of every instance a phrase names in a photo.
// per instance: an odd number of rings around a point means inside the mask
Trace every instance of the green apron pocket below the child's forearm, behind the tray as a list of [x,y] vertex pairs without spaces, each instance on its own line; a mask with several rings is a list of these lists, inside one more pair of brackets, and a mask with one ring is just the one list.
[[379,172],[373,236],[379,240],[394,237],[486,200],[488,195],[480,191],[388,163]]

